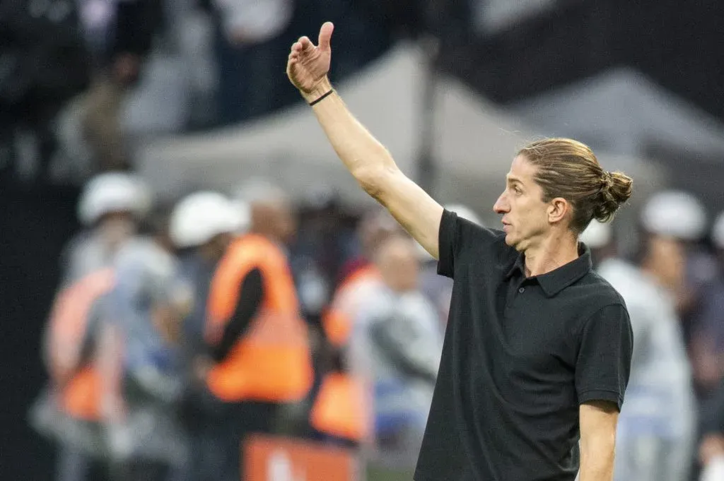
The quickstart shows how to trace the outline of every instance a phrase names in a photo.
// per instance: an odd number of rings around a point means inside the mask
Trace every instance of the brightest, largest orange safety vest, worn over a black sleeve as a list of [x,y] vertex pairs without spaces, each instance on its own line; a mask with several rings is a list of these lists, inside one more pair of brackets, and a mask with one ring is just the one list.
[[240,284],[254,268],[264,282],[261,308],[248,333],[211,368],[206,384],[223,401],[300,401],[313,383],[309,336],[287,258],[268,239],[247,234],[222,257],[209,291],[207,340],[219,340],[236,309]]

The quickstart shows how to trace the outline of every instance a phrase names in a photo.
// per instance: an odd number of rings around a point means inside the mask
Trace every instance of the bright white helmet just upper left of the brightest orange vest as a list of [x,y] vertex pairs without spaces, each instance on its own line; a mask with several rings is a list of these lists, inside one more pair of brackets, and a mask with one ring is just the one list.
[[196,247],[219,234],[243,227],[243,213],[218,192],[195,192],[180,201],[171,213],[169,234],[177,247]]

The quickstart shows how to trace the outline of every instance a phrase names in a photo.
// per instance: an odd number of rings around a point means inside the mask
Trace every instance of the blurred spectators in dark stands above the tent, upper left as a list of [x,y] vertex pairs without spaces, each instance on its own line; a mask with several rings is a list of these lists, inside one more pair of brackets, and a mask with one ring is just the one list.
[[460,37],[468,10],[449,0],[3,1],[0,172],[79,184],[131,166],[149,138],[299,101],[284,75],[288,49],[325,20],[354,46],[335,54],[336,79],[396,38]]

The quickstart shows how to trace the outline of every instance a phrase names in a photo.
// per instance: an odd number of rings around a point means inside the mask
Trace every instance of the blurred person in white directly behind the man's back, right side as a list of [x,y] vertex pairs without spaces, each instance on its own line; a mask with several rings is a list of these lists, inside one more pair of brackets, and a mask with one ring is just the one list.
[[633,329],[626,401],[618,418],[615,479],[678,481],[689,476],[696,436],[691,367],[673,295],[618,257],[610,224],[581,234],[597,273],[623,296]]

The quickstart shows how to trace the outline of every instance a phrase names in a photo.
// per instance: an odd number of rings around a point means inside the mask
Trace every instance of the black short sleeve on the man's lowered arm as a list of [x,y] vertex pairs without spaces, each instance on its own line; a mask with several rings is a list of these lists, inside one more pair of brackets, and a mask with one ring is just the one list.
[[578,403],[611,401],[621,409],[632,352],[633,332],[624,305],[608,305],[589,318],[576,359]]

